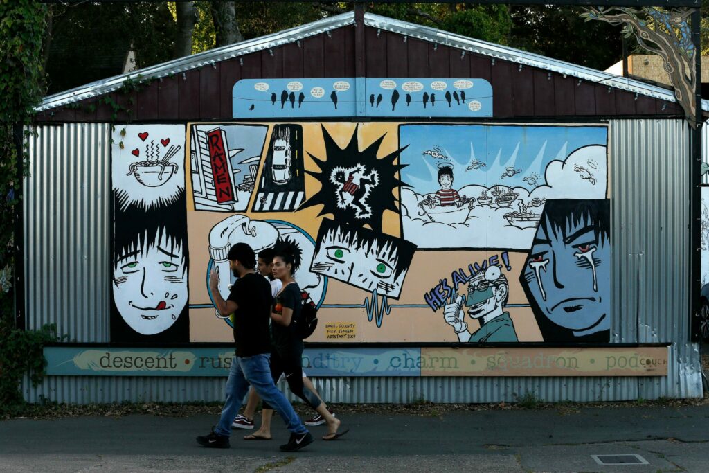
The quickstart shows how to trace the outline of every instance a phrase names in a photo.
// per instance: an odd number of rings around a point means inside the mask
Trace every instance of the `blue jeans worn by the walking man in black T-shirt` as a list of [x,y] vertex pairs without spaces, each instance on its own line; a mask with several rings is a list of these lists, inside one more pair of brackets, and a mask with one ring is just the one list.
[[288,430],[295,434],[308,431],[301,422],[293,406],[286,396],[279,391],[271,377],[269,360],[271,355],[262,354],[252,357],[234,357],[226,382],[226,401],[222,408],[219,423],[214,429],[219,435],[231,435],[231,423],[241,407],[241,403],[249,391],[249,384],[254,386],[257,394],[283,417]]

